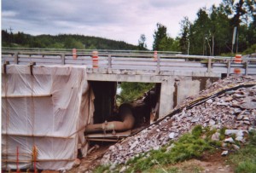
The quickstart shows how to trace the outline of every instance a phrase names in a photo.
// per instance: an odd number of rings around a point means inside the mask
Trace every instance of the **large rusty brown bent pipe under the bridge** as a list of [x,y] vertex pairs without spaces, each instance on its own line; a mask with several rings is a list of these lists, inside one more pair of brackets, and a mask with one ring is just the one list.
[[85,133],[107,132],[107,131],[125,131],[131,130],[135,123],[135,118],[132,115],[131,106],[123,104],[119,107],[119,116],[122,121],[111,121],[102,124],[88,124],[85,128]]

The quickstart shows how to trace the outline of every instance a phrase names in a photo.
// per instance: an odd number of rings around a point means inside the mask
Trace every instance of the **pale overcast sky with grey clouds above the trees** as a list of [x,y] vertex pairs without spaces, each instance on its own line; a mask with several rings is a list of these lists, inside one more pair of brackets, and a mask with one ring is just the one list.
[[59,33],[106,37],[136,44],[145,34],[152,49],[160,22],[177,37],[184,16],[221,0],[2,0],[2,29],[32,35]]

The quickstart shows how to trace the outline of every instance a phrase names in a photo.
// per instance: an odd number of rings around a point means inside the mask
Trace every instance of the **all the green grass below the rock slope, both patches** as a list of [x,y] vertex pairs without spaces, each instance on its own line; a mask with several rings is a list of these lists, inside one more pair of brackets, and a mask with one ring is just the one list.
[[[204,153],[214,153],[215,147],[221,147],[224,140],[224,131],[210,130],[210,128],[202,128],[200,125],[195,126],[191,133],[181,136],[178,141],[170,141],[166,146],[159,150],[151,150],[148,153],[141,153],[137,157],[129,159],[126,164],[116,165],[113,169],[111,166],[99,166],[94,170],[96,173],[119,172],[125,166],[125,172],[201,172],[203,168],[198,165],[186,165],[177,167],[177,163],[181,163],[189,159],[201,159]],[[218,132],[221,141],[212,141],[212,134]],[[231,136],[235,139],[235,136]],[[235,143],[241,149],[234,154],[230,154],[228,164],[235,168],[237,173],[256,172],[256,131],[250,132],[247,145],[240,142]],[[230,147],[229,147],[230,146]],[[243,146],[243,147],[242,147]],[[227,145],[231,148],[231,144]]]

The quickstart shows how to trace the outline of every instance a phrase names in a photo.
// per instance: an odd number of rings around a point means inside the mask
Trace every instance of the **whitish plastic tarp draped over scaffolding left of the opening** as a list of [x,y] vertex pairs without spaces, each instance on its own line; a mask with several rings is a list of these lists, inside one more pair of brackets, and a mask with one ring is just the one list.
[[94,112],[85,66],[3,66],[2,169],[66,170]]

